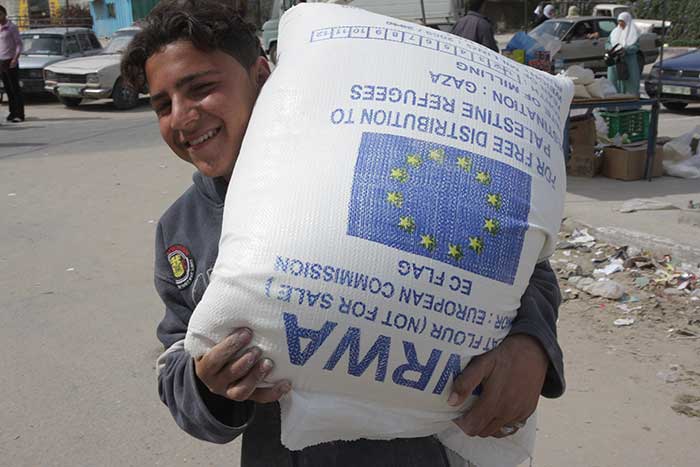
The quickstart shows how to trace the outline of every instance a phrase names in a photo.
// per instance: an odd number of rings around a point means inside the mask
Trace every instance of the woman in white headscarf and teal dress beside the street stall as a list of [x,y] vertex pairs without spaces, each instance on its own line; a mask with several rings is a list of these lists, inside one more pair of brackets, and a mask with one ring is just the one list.
[[637,59],[639,53],[639,29],[632,21],[629,13],[620,13],[617,17],[617,27],[613,29],[605,44],[606,50],[622,49],[622,61],[627,65],[627,76],[621,75],[617,65],[608,67],[608,79],[612,81],[621,94],[639,96],[639,80],[642,75],[641,66]]

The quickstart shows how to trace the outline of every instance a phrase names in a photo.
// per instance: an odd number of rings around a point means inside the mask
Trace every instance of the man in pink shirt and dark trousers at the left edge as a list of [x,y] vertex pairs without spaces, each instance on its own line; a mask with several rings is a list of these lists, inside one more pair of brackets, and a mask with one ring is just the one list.
[[0,75],[10,104],[8,122],[24,121],[24,100],[19,87],[19,54],[22,53],[22,38],[19,29],[7,19],[7,10],[0,5]]

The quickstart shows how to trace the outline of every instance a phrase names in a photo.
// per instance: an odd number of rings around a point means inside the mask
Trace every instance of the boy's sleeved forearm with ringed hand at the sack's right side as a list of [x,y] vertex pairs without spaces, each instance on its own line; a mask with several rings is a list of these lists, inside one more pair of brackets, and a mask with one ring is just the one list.
[[[480,397],[455,420],[464,433],[507,436],[535,411],[540,394],[558,396],[564,391],[556,341],[560,302],[554,272],[548,263],[538,264],[508,336],[495,349],[474,357],[455,379],[448,400],[453,406],[461,405],[482,385]],[[509,429],[503,431],[503,427]]]

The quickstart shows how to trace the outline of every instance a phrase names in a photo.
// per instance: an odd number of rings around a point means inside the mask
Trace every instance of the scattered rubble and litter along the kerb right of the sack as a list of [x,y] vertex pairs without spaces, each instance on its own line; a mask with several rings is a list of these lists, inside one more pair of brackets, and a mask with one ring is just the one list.
[[645,320],[667,325],[674,336],[700,336],[697,264],[610,245],[585,228],[562,229],[550,262],[565,302],[584,300],[605,309],[614,326]]

